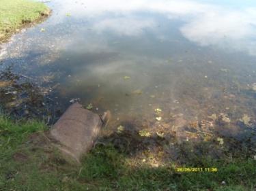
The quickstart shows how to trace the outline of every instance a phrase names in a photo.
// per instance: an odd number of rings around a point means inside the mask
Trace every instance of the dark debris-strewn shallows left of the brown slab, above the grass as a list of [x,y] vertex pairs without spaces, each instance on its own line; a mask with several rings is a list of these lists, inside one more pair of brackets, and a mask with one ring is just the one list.
[[38,119],[53,124],[66,109],[59,104],[55,88],[56,84],[35,82],[8,67],[0,73],[1,109],[17,120]]

